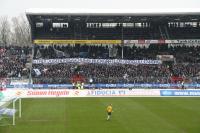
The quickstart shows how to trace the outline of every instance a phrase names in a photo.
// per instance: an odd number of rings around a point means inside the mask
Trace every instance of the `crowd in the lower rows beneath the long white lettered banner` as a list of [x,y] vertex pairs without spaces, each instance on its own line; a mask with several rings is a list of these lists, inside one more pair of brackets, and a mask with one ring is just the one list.
[[[32,72],[35,83],[71,83],[76,64],[37,64]],[[81,64],[79,74],[85,77],[85,82],[92,78],[95,83],[172,83],[172,76],[191,79],[200,76],[200,64],[168,65],[103,65]],[[198,79],[198,78],[197,78]],[[196,80],[195,79],[195,82]]]

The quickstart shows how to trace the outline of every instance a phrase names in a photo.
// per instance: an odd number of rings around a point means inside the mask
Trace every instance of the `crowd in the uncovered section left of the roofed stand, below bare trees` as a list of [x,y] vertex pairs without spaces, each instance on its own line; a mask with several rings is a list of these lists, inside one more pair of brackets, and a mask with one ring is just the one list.
[[27,78],[30,70],[26,63],[30,59],[30,53],[29,47],[0,47],[0,78]]

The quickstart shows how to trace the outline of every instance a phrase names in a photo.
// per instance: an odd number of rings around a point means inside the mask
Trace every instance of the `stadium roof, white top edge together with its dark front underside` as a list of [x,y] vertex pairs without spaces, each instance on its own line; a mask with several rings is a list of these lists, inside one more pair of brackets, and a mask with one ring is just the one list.
[[28,9],[30,24],[35,22],[200,22],[200,9]]

